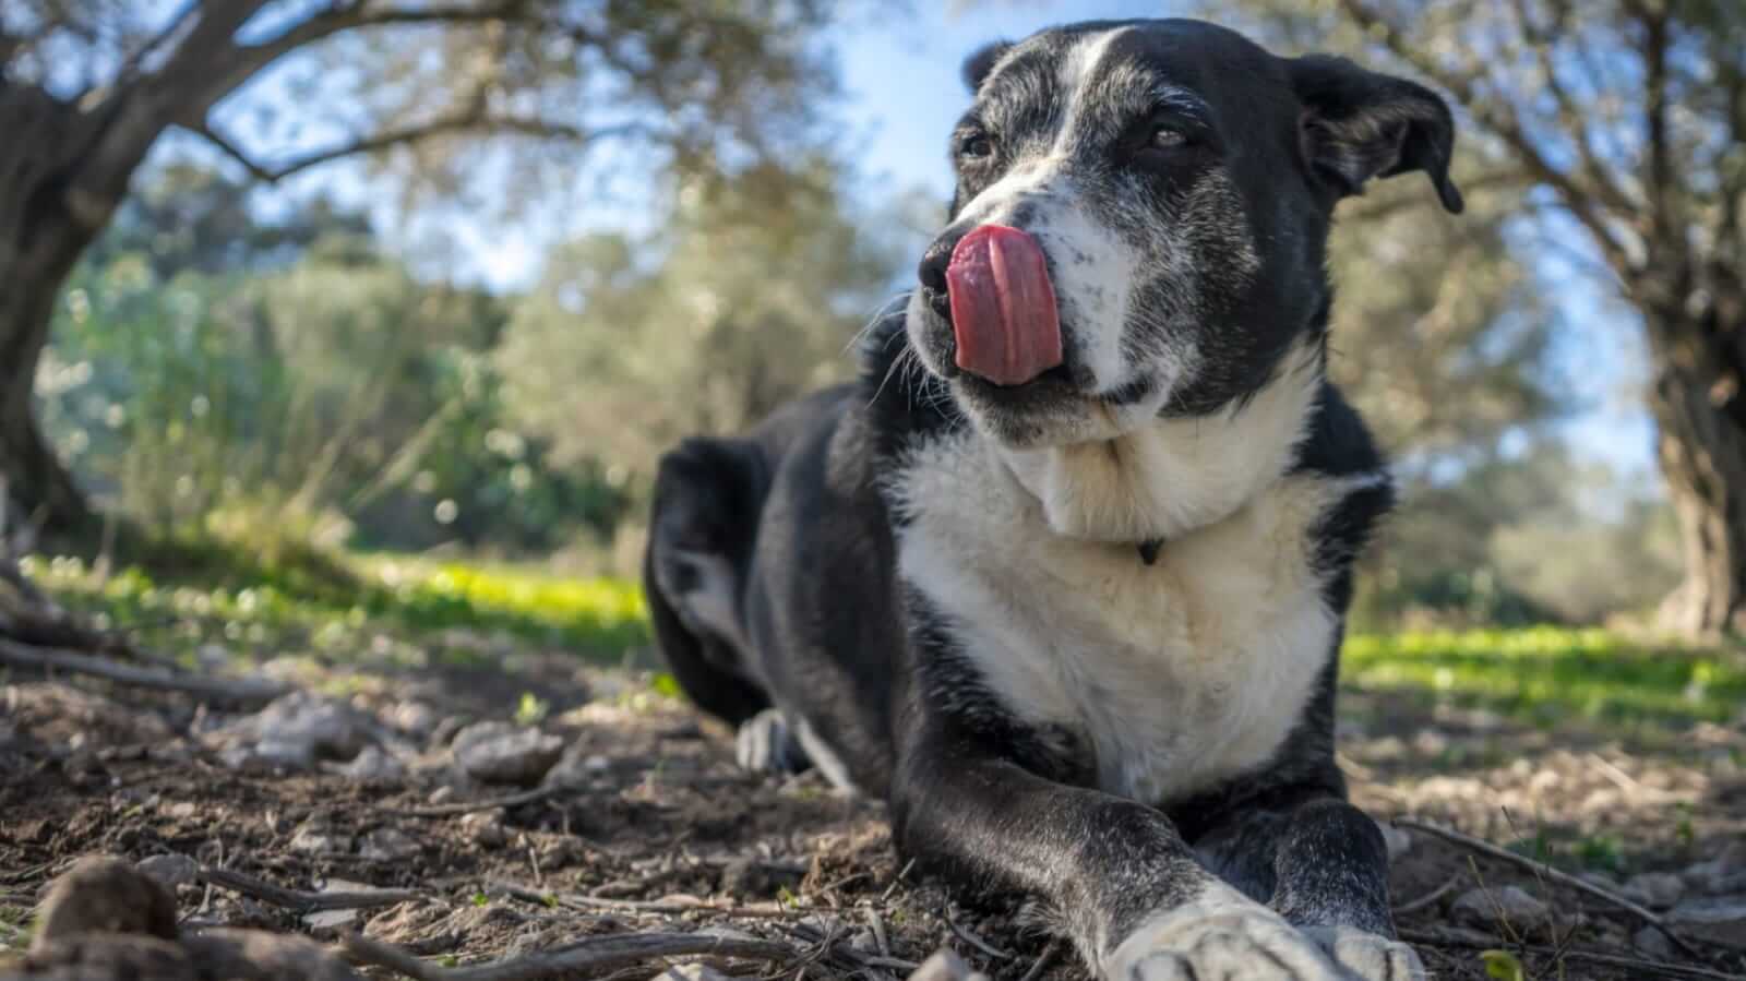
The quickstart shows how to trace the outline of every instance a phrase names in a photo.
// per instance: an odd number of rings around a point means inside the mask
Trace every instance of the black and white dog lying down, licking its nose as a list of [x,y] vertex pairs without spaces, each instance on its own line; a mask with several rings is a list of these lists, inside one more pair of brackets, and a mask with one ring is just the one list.
[[1334,681],[1392,485],[1327,377],[1329,222],[1447,106],[1196,21],[969,59],[952,222],[861,384],[667,454],[660,646],[751,766],[890,803],[1103,978],[1407,979]]

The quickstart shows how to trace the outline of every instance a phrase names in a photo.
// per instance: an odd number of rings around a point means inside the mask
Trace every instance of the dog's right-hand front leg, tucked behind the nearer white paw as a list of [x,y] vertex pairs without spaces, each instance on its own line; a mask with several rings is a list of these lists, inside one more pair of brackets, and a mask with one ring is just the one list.
[[1376,822],[1343,799],[1236,815],[1194,841],[1201,861],[1365,981],[1413,981],[1425,967],[1395,941],[1388,848]]

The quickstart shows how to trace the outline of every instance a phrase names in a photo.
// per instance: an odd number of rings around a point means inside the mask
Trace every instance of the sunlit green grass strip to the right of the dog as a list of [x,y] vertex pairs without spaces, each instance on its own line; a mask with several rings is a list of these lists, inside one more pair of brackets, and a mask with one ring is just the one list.
[[1402,632],[1346,641],[1360,689],[1418,691],[1554,723],[1734,719],[1746,705],[1736,649],[1645,644],[1606,630]]

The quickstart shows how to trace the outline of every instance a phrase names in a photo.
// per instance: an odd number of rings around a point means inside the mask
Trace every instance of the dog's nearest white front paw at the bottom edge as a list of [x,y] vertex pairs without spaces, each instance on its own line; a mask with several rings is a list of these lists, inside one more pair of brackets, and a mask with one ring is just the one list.
[[1102,974],[1105,981],[1351,981],[1316,941],[1222,887],[1142,923]]

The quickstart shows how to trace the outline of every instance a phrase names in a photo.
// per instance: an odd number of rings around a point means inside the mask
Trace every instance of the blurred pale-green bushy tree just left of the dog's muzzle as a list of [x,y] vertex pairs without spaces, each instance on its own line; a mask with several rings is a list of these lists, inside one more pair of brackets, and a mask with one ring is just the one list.
[[733,433],[854,372],[856,332],[918,243],[852,211],[814,159],[681,182],[648,237],[559,250],[498,351],[519,422],[620,482],[690,433]]

